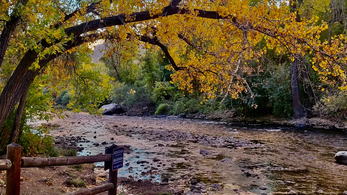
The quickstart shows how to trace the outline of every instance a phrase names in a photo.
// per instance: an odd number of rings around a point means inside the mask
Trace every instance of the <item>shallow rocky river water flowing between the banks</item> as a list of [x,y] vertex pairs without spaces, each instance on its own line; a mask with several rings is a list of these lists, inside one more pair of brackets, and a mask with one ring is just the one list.
[[[334,159],[336,152],[347,150],[347,133],[343,131],[235,125],[197,119],[99,117],[86,113],[70,113],[69,118],[54,119],[51,123],[60,125],[51,132],[56,139],[83,136],[90,140],[78,143],[85,148],[79,155],[104,152],[105,146],[112,143],[130,145],[131,151],[125,154],[130,165],[120,169],[120,176],[135,179],[155,176],[153,179],[160,181],[163,177],[188,175],[198,181],[222,185],[223,191],[211,190],[207,194],[234,194],[235,188],[240,194],[288,194],[290,190],[297,194],[316,194],[319,189],[324,194],[342,194],[347,190],[347,166],[338,165]],[[245,139],[261,147],[218,148],[178,139],[184,132],[218,136],[218,139]],[[104,141],[107,144],[102,145]],[[160,144],[163,147],[157,147]],[[199,154],[200,149],[212,154],[204,157]],[[160,158],[160,164],[154,163],[154,158]],[[222,159],[230,161],[221,162]],[[139,160],[149,163],[136,163]],[[151,174],[141,174],[153,167],[155,171]],[[247,171],[252,175],[245,175]],[[263,174],[264,178],[253,174]],[[259,189],[261,185],[267,189]]]

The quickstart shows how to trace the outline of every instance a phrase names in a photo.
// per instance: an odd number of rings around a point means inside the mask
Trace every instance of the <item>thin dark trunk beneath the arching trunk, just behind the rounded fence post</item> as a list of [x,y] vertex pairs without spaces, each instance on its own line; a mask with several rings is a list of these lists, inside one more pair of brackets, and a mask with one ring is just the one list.
[[20,121],[22,119],[23,110],[25,107],[25,101],[26,101],[26,98],[28,96],[28,91],[29,91],[29,88],[26,88],[25,91],[23,91],[23,95],[19,100],[16,116],[15,116],[15,119],[13,121],[12,132],[10,135],[10,139],[8,140],[8,144],[17,142],[18,135],[19,135]]

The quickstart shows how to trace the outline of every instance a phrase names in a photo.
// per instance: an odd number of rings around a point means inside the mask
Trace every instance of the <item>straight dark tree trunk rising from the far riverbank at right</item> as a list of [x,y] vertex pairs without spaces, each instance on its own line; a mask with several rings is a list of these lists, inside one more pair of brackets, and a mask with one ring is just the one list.
[[301,118],[305,116],[303,106],[300,100],[300,90],[299,90],[299,70],[298,70],[298,60],[291,63],[291,95],[293,98],[293,111],[294,118]]

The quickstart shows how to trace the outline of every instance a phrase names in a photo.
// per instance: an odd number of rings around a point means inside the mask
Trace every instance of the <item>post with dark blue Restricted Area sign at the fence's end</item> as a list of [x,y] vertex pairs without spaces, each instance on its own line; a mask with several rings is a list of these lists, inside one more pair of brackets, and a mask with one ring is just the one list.
[[108,195],[117,195],[118,169],[123,167],[124,147],[111,145],[105,149],[105,154],[112,154],[112,161],[105,162],[104,169],[109,171],[109,183],[113,184],[113,189],[109,190]]

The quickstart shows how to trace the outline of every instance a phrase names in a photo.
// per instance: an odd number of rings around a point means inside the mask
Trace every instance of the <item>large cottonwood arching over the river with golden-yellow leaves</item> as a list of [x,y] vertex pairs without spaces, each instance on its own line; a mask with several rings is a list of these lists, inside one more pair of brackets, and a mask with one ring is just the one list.
[[[0,7],[1,68],[10,70],[2,78],[0,125],[17,107],[11,142],[35,77],[53,59],[98,39],[159,46],[179,88],[192,91],[194,81],[206,99],[252,94],[246,78],[262,71],[267,49],[288,53],[293,62],[309,54],[323,82],[346,88],[344,36],[331,45],[321,42],[327,24],[318,25],[315,16],[296,20],[286,2],[19,0],[2,1]],[[261,42],[266,47],[259,47]],[[252,68],[251,61],[259,66]]]

